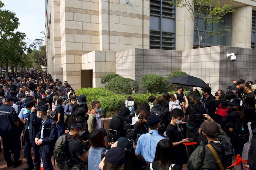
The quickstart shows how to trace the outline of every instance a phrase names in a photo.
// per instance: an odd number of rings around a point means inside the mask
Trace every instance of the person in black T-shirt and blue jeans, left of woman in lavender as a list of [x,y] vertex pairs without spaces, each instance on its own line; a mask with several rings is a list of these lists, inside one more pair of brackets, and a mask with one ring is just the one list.
[[65,122],[64,122],[64,108],[62,107],[64,99],[58,98],[58,105],[56,108],[56,113],[58,114],[57,129],[58,129],[58,138],[64,133]]

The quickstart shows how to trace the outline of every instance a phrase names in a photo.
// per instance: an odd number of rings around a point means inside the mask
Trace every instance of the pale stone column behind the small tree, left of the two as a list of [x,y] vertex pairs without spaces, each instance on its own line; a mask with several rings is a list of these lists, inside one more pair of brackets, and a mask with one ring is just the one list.
[[[192,3],[192,0],[189,0]],[[176,50],[191,50],[194,44],[194,21],[187,8],[176,7]]]

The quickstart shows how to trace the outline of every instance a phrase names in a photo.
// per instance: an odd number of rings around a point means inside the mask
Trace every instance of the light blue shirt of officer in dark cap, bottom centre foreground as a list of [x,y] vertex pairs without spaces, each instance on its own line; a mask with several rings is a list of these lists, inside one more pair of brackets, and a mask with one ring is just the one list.
[[153,162],[156,155],[157,143],[165,139],[157,130],[150,130],[139,137],[135,153],[140,154],[147,162]]

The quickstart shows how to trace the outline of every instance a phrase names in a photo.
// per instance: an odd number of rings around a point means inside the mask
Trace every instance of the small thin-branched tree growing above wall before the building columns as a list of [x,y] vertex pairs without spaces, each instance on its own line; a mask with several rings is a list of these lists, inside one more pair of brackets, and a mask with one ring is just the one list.
[[[219,1],[215,0],[176,0],[169,1],[169,3],[176,5],[176,7],[185,7],[189,11],[190,17],[197,28],[197,35],[199,38],[198,48],[201,47],[203,41],[216,34],[226,35],[226,32],[230,31],[227,29],[227,25],[219,27],[219,30],[208,31],[208,29],[213,24],[224,22],[223,17],[227,13],[236,11],[231,9],[231,4],[221,5]],[[203,21],[200,22],[200,20]],[[200,24],[202,24],[202,27]]]

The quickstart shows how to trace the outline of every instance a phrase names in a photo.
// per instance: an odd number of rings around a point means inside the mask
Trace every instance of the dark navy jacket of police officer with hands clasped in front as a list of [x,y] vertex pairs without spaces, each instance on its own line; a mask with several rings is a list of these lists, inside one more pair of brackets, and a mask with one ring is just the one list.
[[[36,135],[37,138],[41,139],[41,130],[42,130],[42,122],[40,125],[40,130]],[[56,128],[55,122],[47,116],[45,120],[45,127],[43,131],[43,138],[44,143],[40,145],[42,151],[45,153],[52,153],[54,150],[54,145],[56,140],[58,139],[58,131]]]

